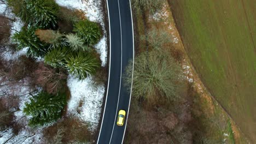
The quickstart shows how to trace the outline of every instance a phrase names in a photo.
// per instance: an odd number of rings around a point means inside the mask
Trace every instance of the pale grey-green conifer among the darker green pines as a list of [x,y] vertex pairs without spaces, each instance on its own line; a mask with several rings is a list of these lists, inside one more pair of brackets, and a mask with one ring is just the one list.
[[65,40],[73,51],[89,51],[89,47],[84,45],[84,41],[77,34],[67,34]]

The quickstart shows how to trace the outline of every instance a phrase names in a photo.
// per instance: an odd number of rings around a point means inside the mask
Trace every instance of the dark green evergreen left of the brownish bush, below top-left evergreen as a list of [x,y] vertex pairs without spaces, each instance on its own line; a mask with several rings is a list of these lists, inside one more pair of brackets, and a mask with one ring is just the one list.
[[13,40],[18,44],[18,49],[28,47],[27,55],[32,57],[42,57],[49,49],[49,45],[41,43],[35,34],[35,28],[23,27],[19,33],[15,33]]

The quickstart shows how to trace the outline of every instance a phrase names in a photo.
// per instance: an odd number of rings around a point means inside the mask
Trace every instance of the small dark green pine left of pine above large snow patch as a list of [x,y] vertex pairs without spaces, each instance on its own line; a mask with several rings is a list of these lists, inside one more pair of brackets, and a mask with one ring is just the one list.
[[51,65],[53,68],[63,67],[66,65],[65,58],[68,55],[66,47],[57,47],[56,49],[50,50],[44,57],[44,62]]

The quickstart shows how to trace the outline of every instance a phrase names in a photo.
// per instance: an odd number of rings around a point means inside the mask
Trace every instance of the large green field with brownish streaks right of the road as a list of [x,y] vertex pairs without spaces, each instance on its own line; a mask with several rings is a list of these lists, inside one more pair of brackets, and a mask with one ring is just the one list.
[[243,133],[256,142],[255,0],[169,2],[197,73]]

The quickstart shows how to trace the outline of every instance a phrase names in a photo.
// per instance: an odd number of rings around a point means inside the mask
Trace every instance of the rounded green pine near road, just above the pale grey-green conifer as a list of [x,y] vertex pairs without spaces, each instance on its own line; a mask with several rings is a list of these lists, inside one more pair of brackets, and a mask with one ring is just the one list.
[[89,20],[82,20],[75,23],[73,31],[76,32],[87,45],[97,44],[102,37],[101,27],[98,23]]

